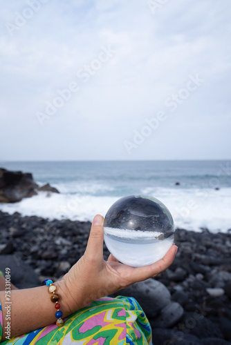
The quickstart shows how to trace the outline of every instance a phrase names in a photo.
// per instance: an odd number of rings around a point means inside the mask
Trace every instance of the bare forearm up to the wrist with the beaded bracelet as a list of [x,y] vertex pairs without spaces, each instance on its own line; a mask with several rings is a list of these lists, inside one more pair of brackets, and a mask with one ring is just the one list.
[[[60,310],[62,318],[71,314],[68,308],[68,296],[62,288],[62,283],[57,286],[59,295]],[[15,337],[24,333],[35,331],[44,326],[56,322],[55,304],[50,300],[47,286],[28,288],[22,290],[12,290],[10,301],[6,299],[5,291],[1,291],[0,300],[3,312],[3,337],[6,339],[6,325],[10,322],[10,337]],[[11,302],[11,303],[10,303]]]

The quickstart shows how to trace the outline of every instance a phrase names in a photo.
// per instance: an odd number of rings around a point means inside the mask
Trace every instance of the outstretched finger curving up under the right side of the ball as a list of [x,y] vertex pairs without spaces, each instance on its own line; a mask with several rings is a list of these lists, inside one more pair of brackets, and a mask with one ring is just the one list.
[[158,260],[154,264],[149,266],[137,267],[136,268],[136,282],[148,279],[150,277],[156,277],[164,270],[166,270],[174,262],[175,255],[178,247],[173,245],[165,254],[163,259]]

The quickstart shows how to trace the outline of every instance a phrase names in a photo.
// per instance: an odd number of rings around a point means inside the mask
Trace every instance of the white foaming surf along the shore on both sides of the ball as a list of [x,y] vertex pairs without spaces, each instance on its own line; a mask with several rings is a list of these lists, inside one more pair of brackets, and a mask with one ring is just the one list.
[[[140,194],[140,191],[138,192]],[[221,190],[145,188],[142,193],[162,201],[172,213],[176,227],[196,231],[208,228],[214,233],[226,232],[231,228],[231,188]],[[40,192],[35,197],[23,199],[15,204],[0,204],[0,209],[10,214],[17,211],[21,215],[37,215],[48,219],[92,221],[98,213],[106,215],[109,207],[119,199],[119,197],[87,195],[86,192],[50,193],[50,197],[47,195],[46,192]]]

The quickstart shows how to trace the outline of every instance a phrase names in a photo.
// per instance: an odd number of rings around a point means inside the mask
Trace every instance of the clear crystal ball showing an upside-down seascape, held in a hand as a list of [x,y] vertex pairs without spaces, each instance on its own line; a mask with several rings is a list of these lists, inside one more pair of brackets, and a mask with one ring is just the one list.
[[104,242],[123,264],[133,267],[153,264],[163,258],[174,242],[172,215],[154,197],[122,197],[104,218]]

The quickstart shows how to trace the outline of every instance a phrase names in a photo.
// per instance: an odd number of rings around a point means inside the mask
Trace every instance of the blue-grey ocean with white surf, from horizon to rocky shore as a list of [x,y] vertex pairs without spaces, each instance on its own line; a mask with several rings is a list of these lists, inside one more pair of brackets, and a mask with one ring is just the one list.
[[92,221],[120,197],[143,194],[162,201],[178,228],[213,233],[231,228],[231,161],[5,161],[0,166],[32,172],[37,184],[49,183],[60,192],[0,204],[10,214]]

